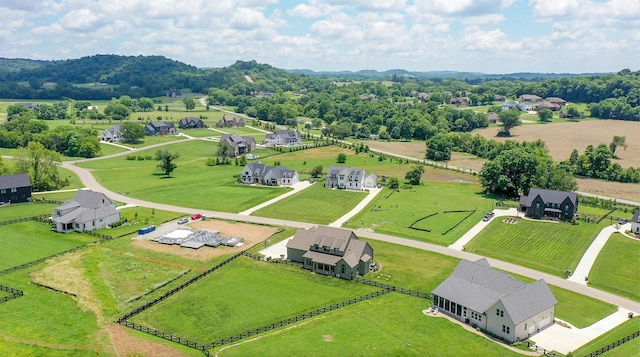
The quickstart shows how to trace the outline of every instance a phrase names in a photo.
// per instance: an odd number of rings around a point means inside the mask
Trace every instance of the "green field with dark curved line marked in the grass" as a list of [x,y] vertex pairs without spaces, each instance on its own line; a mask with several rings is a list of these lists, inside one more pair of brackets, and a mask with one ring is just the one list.
[[[346,227],[446,246],[478,223],[494,202],[475,183],[425,181],[397,192],[385,188]],[[409,228],[414,223],[422,230]]]

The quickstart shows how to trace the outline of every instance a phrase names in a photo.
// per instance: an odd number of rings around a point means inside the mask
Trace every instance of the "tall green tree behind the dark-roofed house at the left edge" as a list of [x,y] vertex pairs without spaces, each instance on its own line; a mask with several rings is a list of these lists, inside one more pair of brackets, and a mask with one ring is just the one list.
[[63,185],[58,175],[60,154],[48,150],[39,142],[32,141],[17,155],[16,171],[28,173],[34,191],[56,190]]

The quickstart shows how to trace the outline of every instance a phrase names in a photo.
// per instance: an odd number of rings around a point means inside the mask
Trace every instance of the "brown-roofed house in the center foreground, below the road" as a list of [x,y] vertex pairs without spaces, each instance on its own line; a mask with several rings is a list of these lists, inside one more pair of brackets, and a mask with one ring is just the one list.
[[353,231],[326,226],[298,229],[287,243],[287,259],[314,273],[352,280],[373,264],[373,248]]

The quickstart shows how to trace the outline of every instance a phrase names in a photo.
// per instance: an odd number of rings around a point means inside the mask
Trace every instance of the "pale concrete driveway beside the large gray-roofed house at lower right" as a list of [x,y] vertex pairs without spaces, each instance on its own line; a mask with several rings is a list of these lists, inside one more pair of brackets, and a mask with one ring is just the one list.
[[569,327],[556,323],[531,336],[531,340],[546,350],[555,350],[566,355],[569,351],[577,350],[580,346],[627,321],[629,312],[627,309],[620,308],[604,319],[582,329],[566,322],[562,324]]

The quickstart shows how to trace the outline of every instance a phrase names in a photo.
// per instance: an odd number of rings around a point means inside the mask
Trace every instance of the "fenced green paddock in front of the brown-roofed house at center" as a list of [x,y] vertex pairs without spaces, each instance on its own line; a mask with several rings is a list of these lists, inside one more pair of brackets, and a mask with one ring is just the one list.
[[241,257],[132,320],[209,343],[375,290],[294,266]]

